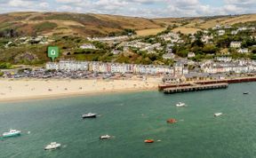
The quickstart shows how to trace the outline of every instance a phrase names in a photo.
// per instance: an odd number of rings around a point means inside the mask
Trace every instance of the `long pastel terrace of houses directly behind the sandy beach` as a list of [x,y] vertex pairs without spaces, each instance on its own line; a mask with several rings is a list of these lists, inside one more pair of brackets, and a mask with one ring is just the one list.
[[183,75],[188,74],[188,67],[182,64],[175,64],[174,67],[137,65],[137,64],[119,64],[104,63],[96,61],[74,61],[61,60],[60,62],[46,63],[46,69],[64,70],[64,71],[91,71],[97,73],[121,73],[121,74],[140,74],[140,75]]

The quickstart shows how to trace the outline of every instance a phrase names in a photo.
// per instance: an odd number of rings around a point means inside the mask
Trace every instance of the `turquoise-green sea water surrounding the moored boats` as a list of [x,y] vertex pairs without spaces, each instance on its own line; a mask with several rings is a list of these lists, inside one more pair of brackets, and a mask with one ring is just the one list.
[[[0,140],[0,157],[256,157],[255,93],[256,83],[241,83],[172,95],[147,91],[1,103],[0,133],[12,128],[22,134]],[[188,107],[175,107],[179,101]],[[82,120],[89,112],[100,116]],[[225,115],[214,118],[218,112]],[[168,118],[179,122],[167,124]],[[115,137],[100,140],[105,134]],[[145,144],[146,138],[161,141]],[[52,141],[61,148],[44,151]]]

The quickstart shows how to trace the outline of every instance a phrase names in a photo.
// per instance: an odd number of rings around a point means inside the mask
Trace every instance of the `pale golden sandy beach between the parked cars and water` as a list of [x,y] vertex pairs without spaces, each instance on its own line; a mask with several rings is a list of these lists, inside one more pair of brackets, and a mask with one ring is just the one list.
[[157,90],[160,78],[142,80],[0,80],[0,101],[47,99],[109,92]]

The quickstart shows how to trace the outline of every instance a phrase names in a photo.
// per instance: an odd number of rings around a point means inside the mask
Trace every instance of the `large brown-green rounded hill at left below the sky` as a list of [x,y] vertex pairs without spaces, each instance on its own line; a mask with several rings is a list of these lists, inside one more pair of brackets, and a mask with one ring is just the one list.
[[0,31],[14,29],[19,34],[106,36],[135,30],[163,28],[154,20],[103,14],[70,12],[11,12],[0,15]]

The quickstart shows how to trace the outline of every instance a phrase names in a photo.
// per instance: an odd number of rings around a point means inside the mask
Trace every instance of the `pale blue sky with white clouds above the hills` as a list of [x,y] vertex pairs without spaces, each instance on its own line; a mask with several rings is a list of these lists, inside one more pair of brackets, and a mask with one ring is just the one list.
[[27,11],[179,18],[256,13],[256,0],[0,0],[0,13]]

